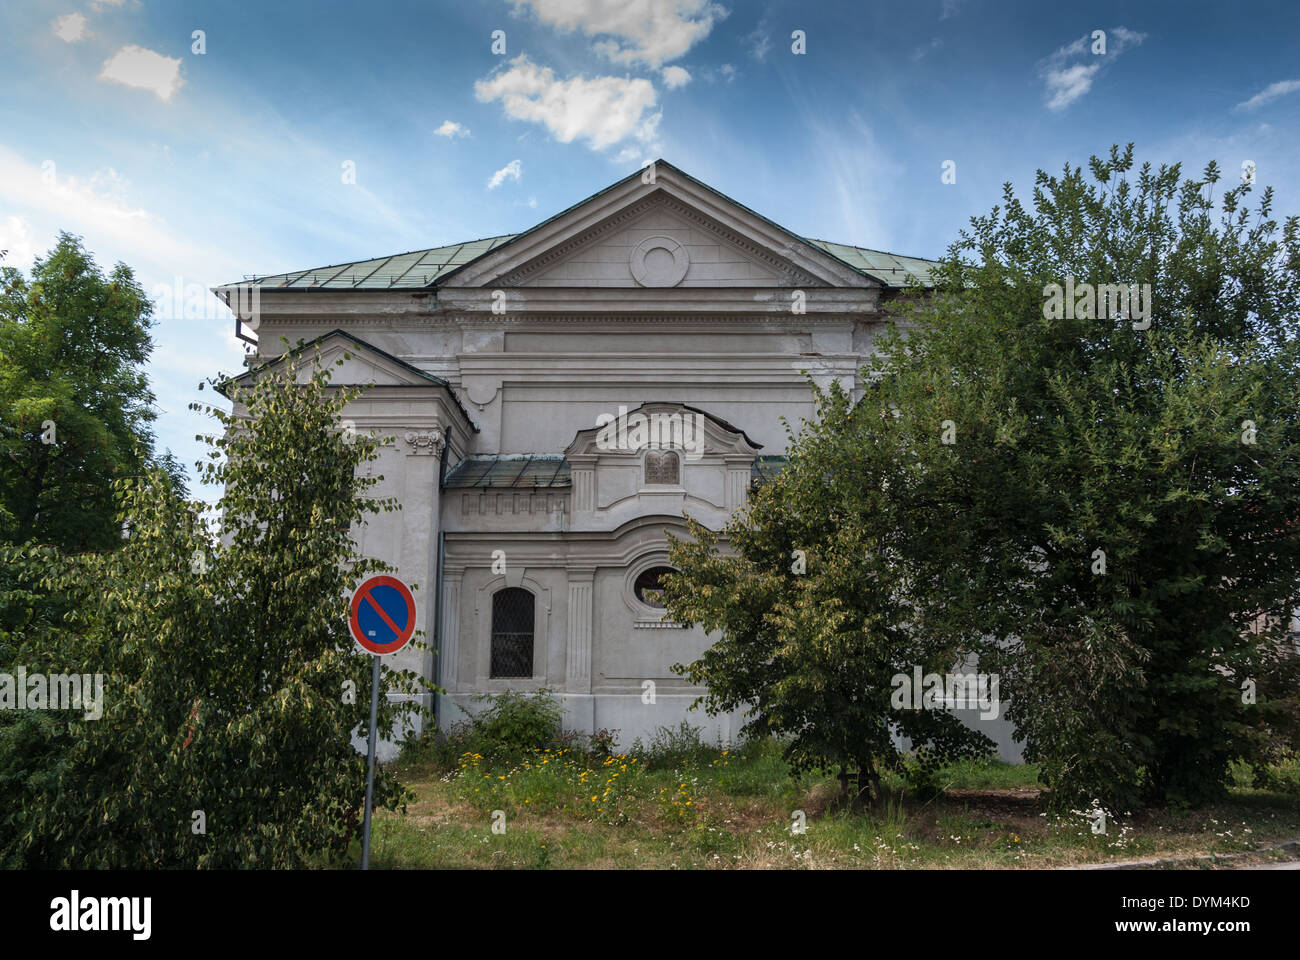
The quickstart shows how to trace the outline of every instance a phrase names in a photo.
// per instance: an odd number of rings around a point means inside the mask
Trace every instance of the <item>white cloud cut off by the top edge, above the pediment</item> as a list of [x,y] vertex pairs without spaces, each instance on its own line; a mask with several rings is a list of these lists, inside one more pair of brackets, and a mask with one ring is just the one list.
[[511,0],[530,8],[543,23],[581,30],[616,64],[662,66],[708,36],[727,10],[710,0]]

